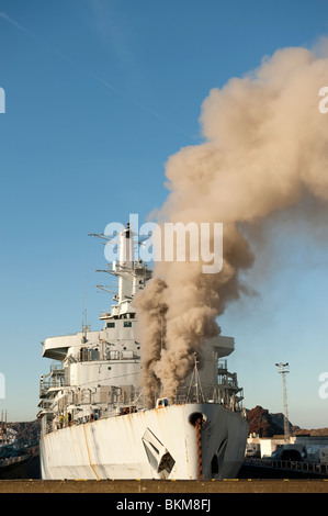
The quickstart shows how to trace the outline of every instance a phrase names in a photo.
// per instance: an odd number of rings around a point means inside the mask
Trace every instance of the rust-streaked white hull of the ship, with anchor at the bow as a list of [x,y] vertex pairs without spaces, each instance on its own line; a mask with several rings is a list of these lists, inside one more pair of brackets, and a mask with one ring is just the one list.
[[[194,425],[203,415],[201,430]],[[248,424],[214,403],[170,405],[72,425],[41,439],[42,478],[227,479],[244,462]]]

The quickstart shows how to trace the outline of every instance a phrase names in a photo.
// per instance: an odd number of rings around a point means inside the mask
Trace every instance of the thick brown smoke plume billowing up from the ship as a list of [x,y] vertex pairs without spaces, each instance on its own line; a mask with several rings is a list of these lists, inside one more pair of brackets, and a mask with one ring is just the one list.
[[[174,396],[193,352],[219,334],[217,316],[245,289],[253,265],[245,225],[298,206],[310,193],[328,200],[328,114],[318,104],[328,59],[305,48],[278,51],[251,75],[213,89],[202,106],[205,143],[169,158],[166,221],[224,224],[224,265],[157,262],[135,299],[143,345],[144,386]],[[306,216],[306,214],[305,214]]]

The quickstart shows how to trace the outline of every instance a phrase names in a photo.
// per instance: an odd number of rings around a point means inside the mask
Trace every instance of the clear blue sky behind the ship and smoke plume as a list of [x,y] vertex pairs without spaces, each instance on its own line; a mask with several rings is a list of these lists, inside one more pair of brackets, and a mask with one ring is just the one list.
[[[25,420],[49,367],[39,343],[80,329],[86,282],[93,328],[111,301],[97,293],[104,278],[94,269],[105,262],[88,232],[129,213],[143,223],[159,207],[165,164],[201,138],[210,90],[278,48],[312,47],[328,33],[328,7],[1,0],[0,12],[0,408]],[[284,221],[272,229],[247,277],[258,295],[222,319],[236,339],[229,362],[245,406],[282,412],[274,363],[289,361],[290,419],[307,428],[328,427],[328,400],[318,396],[328,371],[328,246],[325,227],[318,233],[291,232]]]

